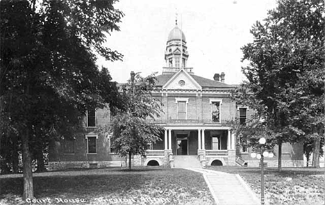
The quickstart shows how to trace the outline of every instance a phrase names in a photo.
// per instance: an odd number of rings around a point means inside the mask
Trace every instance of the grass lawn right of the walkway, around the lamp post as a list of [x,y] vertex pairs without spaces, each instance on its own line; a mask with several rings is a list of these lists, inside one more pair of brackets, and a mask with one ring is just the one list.
[[[208,167],[211,170],[240,174],[252,190],[260,196],[259,167]],[[265,170],[265,198],[270,205],[324,204],[324,168],[284,167],[278,173],[276,167]]]

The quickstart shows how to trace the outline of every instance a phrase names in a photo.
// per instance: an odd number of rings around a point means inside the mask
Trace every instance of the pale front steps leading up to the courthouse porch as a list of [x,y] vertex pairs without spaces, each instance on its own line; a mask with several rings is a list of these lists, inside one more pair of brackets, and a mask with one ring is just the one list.
[[197,155],[174,155],[173,158],[175,168],[201,168]]

